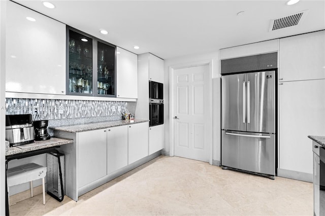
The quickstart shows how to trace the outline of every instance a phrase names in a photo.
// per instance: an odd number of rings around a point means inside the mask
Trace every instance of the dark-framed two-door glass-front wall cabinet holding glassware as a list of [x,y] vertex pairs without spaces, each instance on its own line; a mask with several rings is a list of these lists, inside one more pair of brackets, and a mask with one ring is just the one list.
[[116,47],[67,27],[67,92],[115,96]]

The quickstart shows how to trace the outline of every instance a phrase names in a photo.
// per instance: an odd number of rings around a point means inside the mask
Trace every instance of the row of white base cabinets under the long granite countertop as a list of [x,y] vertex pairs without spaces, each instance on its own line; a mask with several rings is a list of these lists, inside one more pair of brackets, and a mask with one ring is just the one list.
[[66,195],[78,197],[159,156],[148,156],[148,122],[85,132],[54,130],[73,139],[59,149],[66,156]]

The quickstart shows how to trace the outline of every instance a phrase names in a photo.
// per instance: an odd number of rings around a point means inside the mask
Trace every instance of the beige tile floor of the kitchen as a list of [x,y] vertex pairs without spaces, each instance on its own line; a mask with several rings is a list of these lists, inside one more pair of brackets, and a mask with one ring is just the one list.
[[39,194],[11,205],[10,215],[313,215],[313,186],[159,156],[78,202],[46,195],[43,205]]

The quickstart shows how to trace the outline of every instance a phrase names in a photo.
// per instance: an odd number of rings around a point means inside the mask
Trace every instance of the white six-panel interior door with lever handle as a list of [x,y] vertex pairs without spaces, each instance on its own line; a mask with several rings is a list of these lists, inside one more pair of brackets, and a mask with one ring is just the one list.
[[174,70],[175,156],[209,161],[209,65]]

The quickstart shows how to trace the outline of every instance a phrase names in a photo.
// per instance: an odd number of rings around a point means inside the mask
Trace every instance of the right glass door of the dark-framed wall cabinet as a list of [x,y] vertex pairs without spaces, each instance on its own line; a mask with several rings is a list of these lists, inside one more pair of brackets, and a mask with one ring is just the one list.
[[98,42],[97,93],[115,96],[115,47]]

